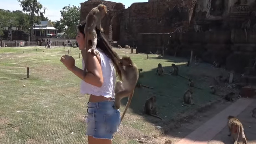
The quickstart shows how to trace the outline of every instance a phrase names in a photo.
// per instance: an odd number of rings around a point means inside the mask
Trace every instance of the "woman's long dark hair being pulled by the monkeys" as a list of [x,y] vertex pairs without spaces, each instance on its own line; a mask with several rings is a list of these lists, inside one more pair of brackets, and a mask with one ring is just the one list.
[[[81,24],[78,25],[78,30],[84,34],[84,27],[85,27],[86,21],[82,21]],[[109,42],[106,40],[104,34],[96,29],[96,33],[97,33],[97,45],[96,47],[100,50],[103,51],[103,53],[105,53],[107,55],[107,57],[109,57],[113,64],[114,67],[116,68],[116,73],[117,76],[119,76],[120,79],[122,79],[122,73],[121,70],[119,68],[119,56],[117,55],[116,52],[114,52],[109,44]],[[85,35],[85,34],[84,34]]]

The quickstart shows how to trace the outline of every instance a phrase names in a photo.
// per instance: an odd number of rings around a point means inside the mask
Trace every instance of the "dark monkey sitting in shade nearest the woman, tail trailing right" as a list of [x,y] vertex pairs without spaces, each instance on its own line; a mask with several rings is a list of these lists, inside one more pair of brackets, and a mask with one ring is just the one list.
[[155,96],[148,98],[144,105],[144,112],[150,116],[163,120],[160,116],[156,115],[157,111],[156,111],[155,102],[156,102]]

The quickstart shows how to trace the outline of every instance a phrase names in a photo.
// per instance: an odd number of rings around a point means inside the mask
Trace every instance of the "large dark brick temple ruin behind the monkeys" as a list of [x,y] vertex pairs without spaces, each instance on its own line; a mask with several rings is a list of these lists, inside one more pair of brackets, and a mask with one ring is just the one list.
[[108,15],[102,27],[110,41],[135,43],[137,53],[164,49],[189,58],[193,50],[206,62],[219,61],[227,70],[244,73],[256,57],[254,1],[149,0],[125,9],[122,3],[88,0],[81,3],[81,21],[93,7],[105,4]]

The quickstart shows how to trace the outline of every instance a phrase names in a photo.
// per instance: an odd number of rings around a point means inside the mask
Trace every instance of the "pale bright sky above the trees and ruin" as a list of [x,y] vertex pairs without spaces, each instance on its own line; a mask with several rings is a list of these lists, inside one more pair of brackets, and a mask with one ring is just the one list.
[[[37,0],[44,7],[47,8],[44,16],[48,17],[51,21],[60,20],[60,10],[67,5],[80,6],[80,3],[87,0]],[[125,5],[125,8],[128,8],[132,3],[135,2],[148,2],[148,0],[108,0],[113,2],[121,2]],[[22,10],[18,0],[0,0],[0,9],[13,10]]]

